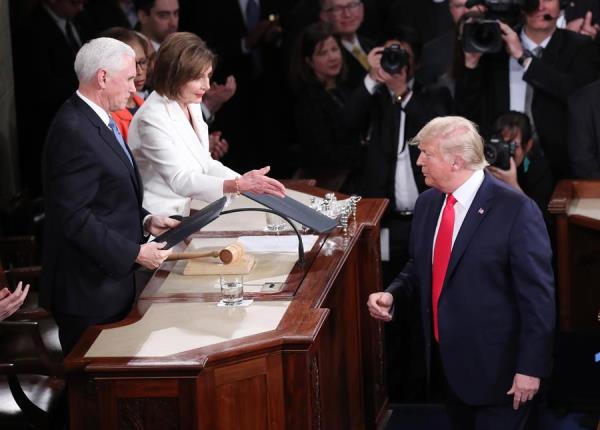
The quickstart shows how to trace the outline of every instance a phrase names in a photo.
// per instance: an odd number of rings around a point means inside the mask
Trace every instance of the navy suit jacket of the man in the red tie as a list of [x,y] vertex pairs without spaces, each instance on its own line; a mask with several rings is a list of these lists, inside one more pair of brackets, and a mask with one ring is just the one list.
[[[445,195],[419,196],[411,260],[387,291],[420,297],[429,361],[431,261]],[[440,354],[465,403],[507,403],[515,373],[550,374],[555,304],[552,250],[535,202],[486,174],[456,237],[438,305]]]

